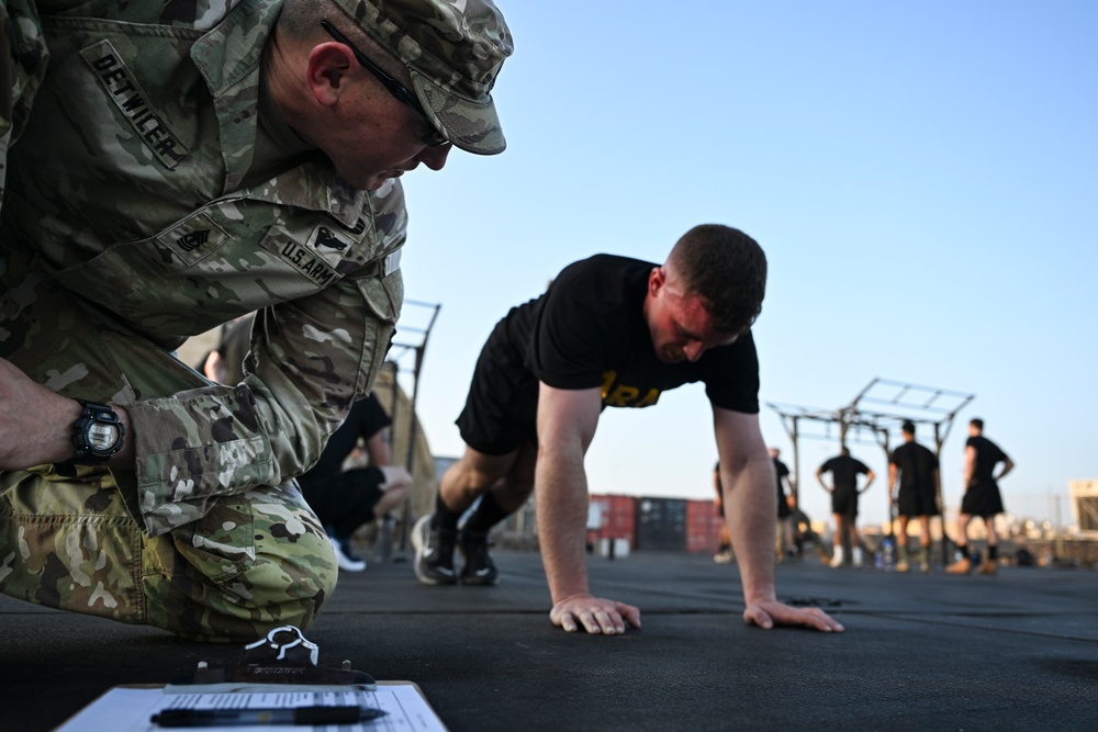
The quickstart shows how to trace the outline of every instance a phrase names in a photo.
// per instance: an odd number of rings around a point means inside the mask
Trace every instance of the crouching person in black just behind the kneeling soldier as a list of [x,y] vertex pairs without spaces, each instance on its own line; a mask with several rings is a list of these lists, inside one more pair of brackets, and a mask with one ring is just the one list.
[[[298,476],[305,502],[328,533],[339,568],[347,572],[366,568],[366,561],[351,549],[351,534],[374,519],[388,519],[412,491],[412,475],[389,464],[384,429],[391,424],[371,392],[351,406],[316,464]],[[367,464],[361,464],[363,458]]]

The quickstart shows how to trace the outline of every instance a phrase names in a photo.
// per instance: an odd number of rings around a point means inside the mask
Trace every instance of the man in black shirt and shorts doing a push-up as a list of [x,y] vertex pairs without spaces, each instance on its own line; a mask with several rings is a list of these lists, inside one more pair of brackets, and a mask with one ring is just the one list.
[[[596,255],[513,308],[477,362],[457,424],[462,458],[442,475],[436,509],[413,530],[425,584],[492,584],[489,530],[533,492],[538,539],[565,631],[640,627],[634,606],[595,597],[587,584],[584,454],[605,407],[647,407],[663,392],[703,382],[743,585],[743,617],[763,628],[841,626],[819,608],[778,603],[771,555],[774,472],[759,428],[759,360],[750,327],[762,307],[766,259],[749,236],[698,226],[662,266]],[[535,489],[535,484],[537,488]],[[458,519],[480,502],[460,528]],[[453,568],[459,545],[466,564]]]

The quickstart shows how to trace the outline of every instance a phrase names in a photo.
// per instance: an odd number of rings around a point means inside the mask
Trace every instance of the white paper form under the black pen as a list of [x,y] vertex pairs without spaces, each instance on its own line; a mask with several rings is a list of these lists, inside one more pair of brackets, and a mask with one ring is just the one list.
[[446,732],[419,689],[410,682],[379,682],[376,691],[266,691],[165,694],[161,688],[115,687],[82,709],[56,732],[163,732],[153,714],[164,709],[293,709],[373,707],[384,717],[357,724],[249,724],[192,728],[199,732]]

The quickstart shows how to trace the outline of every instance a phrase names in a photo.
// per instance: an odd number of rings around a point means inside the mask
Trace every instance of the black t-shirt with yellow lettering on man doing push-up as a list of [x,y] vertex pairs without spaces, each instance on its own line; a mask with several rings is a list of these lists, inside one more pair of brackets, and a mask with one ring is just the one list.
[[714,405],[757,414],[759,359],[750,331],[693,363],[657,358],[643,314],[653,267],[612,255],[569,264],[544,295],[513,308],[496,335],[506,336],[535,387],[537,381],[601,386],[604,407],[647,407],[666,390],[703,382]]

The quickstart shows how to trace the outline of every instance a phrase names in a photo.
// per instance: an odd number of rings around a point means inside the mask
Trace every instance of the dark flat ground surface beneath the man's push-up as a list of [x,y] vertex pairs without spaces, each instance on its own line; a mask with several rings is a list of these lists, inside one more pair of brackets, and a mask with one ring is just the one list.
[[[592,587],[637,605],[606,638],[549,622],[534,553],[496,553],[495,587],[427,587],[406,562],[345,574],[305,635],[416,682],[453,732],[520,730],[1095,730],[1098,573],[997,576],[777,567],[778,597],[844,633],[744,626],[735,564],[637,552],[592,558]],[[53,730],[112,686],[164,684],[240,647],[0,596],[0,730]],[[300,728],[299,728],[300,729]]]

